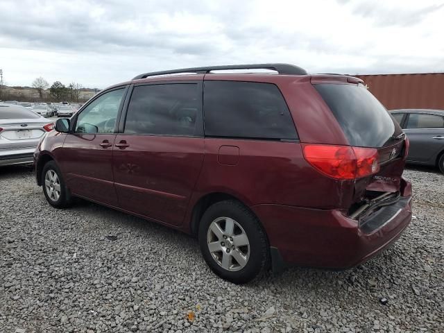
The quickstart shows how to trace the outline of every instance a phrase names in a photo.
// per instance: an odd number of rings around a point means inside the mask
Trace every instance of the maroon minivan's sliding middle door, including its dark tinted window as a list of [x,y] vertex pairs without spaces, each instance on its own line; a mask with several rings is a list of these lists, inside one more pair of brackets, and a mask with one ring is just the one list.
[[136,85],[122,119],[113,157],[120,207],[180,225],[203,164],[201,80]]

